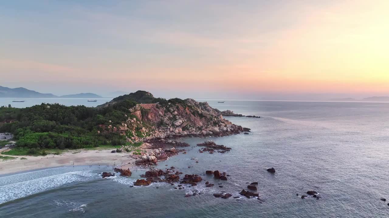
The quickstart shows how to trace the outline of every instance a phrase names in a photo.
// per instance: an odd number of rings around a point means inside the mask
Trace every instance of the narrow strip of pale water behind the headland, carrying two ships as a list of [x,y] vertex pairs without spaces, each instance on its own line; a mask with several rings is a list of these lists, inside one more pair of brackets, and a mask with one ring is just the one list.
[[[25,102],[12,102],[12,101],[25,101]],[[31,107],[37,104],[61,104],[65,106],[77,106],[85,105],[87,107],[96,107],[105,102],[109,102],[112,98],[101,98],[101,99],[90,99],[97,100],[97,102],[88,102],[88,99],[83,98],[0,98],[0,106],[8,106],[11,104],[12,107]]]

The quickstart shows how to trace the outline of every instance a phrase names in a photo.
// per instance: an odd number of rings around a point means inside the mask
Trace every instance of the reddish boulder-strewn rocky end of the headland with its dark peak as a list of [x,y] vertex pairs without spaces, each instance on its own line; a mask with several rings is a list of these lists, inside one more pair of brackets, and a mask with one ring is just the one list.
[[[151,93],[138,91],[130,93],[140,102],[152,102]],[[99,107],[117,104],[126,97]],[[226,136],[245,131],[223,118],[222,112],[209,106],[207,102],[196,102],[193,99],[173,100],[169,103],[137,104],[128,109],[121,126],[100,125],[104,131],[116,131],[126,135],[128,142],[165,140],[176,137]]]

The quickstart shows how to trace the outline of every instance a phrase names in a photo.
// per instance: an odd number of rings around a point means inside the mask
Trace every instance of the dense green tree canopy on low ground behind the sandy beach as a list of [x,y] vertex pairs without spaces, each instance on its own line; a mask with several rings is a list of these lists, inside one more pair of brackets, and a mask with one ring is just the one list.
[[[41,104],[26,108],[0,107],[0,132],[10,132],[19,147],[75,149],[110,142],[123,143],[123,136],[102,130],[101,125],[120,125],[136,102],[123,100],[112,106],[93,108]],[[111,121],[111,122],[109,122]]]

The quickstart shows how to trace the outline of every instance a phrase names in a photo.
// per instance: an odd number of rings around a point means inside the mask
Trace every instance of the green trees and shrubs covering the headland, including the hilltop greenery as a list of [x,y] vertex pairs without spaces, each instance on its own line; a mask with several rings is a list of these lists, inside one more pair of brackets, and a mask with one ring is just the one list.
[[[43,103],[26,108],[0,107],[0,123],[4,123],[0,124],[0,132],[12,133],[17,141],[17,147],[4,154],[58,155],[64,149],[120,148],[125,143],[125,137],[111,131],[108,126],[118,128],[128,118],[139,121],[137,116],[128,112],[137,102],[159,102],[161,105],[185,103],[182,99],[154,98],[145,91],[123,95],[114,101],[114,104],[108,103],[97,108]],[[148,109],[141,109],[142,116],[147,116],[149,112]],[[147,123],[143,125],[148,127]],[[142,133],[139,126],[135,129],[135,134],[130,131],[126,133],[127,137],[134,135],[143,138],[150,133]]]

